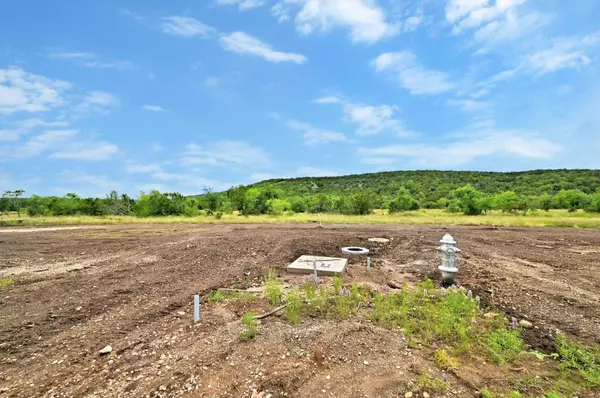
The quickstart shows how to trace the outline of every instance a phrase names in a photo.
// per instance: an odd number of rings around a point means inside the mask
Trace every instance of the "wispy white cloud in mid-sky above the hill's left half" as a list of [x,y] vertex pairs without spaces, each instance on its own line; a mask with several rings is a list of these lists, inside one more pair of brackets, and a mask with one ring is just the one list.
[[382,131],[392,131],[400,136],[412,136],[414,133],[404,127],[404,123],[394,117],[398,110],[396,106],[390,105],[366,105],[341,99],[335,96],[327,96],[314,101],[318,104],[339,104],[344,113],[344,121],[358,125],[356,134],[374,135]]

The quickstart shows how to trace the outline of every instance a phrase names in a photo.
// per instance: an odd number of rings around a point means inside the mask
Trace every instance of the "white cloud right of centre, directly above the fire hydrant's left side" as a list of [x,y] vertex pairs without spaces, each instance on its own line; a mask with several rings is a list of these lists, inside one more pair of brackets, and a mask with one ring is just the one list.
[[422,67],[409,51],[381,54],[371,66],[377,72],[390,72],[411,94],[440,94],[456,88],[447,73]]

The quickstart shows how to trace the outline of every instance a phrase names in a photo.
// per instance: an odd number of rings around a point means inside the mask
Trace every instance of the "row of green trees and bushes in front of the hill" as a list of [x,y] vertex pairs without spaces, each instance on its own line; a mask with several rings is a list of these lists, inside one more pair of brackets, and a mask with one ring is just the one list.
[[200,216],[238,212],[241,215],[284,213],[370,214],[374,209],[397,213],[421,208],[444,209],[466,215],[486,214],[491,210],[527,214],[531,210],[567,209],[600,212],[600,188],[588,194],[579,189],[561,189],[550,194],[523,195],[513,190],[487,194],[467,184],[450,191],[435,202],[427,199],[415,185],[399,186],[386,194],[367,189],[353,193],[314,193],[290,196],[276,184],[232,187],[226,192],[207,190],[195,197],[180,193],[152,191],[137,199],[112,191],[105,198],[81,198],[74,193],[65,196],[21,197],[23,190],[6,191],[0,198],[0,213],[25,211],[29,216],[69,215],[135,215]]

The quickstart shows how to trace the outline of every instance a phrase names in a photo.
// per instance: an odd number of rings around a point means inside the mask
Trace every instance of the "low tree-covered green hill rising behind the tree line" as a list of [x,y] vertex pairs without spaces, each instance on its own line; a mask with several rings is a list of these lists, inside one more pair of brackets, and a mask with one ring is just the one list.
[[512,173],[478,171],[390,171],[339,177],[303,177],[261,181],[251,187],[274,186],[284,197],[319,193],[346,195],[362,190],[393,195],[399,187],[420,193],[425,202],[435,202],[466,184],[486,194],[514,191],[519,195],[554,195],[560,190],[578,189],[592,194],[600,187],[600,170],[531,170]]

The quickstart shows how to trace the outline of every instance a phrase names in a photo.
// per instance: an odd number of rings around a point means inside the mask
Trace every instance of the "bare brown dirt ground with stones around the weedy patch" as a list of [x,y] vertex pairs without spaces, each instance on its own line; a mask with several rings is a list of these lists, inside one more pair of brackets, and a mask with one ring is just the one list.
[[[600,343],[600,233],[578,229],[327,225],[139,225],[0,233],[0,397],[426,397],[426,369],[444,395],[477,396],[485,366],[443,375],[402,334],[372,323],[278,316],[240,342],[240,317],[205,302],[218,287],[259,285],[269,267],[302,254],[364,246],[374,269],[350,261],[347,280],[439,282],[435,247],[449,230],[462,249],[460,284],[534,327],[550,349],[556,329]],[[372,243],[369,237],[391,239]],[[193,326],[192,296],[202,294]],[[266,310],[266,308],[265,308]],[[110,355],[99,351],[113,347]],[[262,396],[254,393],[254,396]],[[266,395],[264,395],[266,396]],[[429,396],[436,396],[430,394]]]

